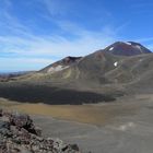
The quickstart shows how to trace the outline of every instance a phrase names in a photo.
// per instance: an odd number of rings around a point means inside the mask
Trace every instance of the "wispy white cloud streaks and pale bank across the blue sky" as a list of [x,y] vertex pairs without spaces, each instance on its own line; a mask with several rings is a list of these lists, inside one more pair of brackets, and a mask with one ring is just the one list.
[[[7,1],[7,8],[11,7],[11,1]],[[49,11],[51,14],[60,13],[58,12],[60,9],[51,3],[54,1],[45,0],[45,2],[46,4],[49,2],[48,11],[51,8],[55,9],[51,10],[52,12]],[[71,39],[60,34],[36,35],[8,9],[3,10],[1,14],[3,16],[0,15],[0,20],[5,20],[0,24],[9,33],[0,35],[0,55],[11,52],[14,56],[0,58],[0,70],[40,69],[66,56],[85,56],[114,43],[118,38],[118,31],[122,28],[122,26],[116,30],[105,26],[99,32],[91,32],[72,22],[55,20],[54,22],[60,31],[74,36]]]

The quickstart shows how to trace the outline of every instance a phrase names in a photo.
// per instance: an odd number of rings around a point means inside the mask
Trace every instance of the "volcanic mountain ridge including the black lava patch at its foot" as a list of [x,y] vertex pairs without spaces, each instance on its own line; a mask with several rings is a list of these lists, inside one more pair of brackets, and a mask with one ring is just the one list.
[[[20,102],[84,104],[153,92],[153,54],[139,43],[117,42],[85,57],[66,57],[0,83],[0,96]],[[20,93],[20,94],[19,94]]]

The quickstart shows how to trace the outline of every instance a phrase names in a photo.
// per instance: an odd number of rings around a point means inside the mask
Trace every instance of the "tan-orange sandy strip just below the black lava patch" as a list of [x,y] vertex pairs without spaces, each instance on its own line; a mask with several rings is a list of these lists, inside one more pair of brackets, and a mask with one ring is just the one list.
[[1,101],[1,105],[12,110],[30,115],[51,116],[57,119],[76,121],[103,126],[113,121],[118,116],[136,114],[138,106],[136,104],[122,103],[103,103],[97,105],[46,105],[46,104],[21,104]]

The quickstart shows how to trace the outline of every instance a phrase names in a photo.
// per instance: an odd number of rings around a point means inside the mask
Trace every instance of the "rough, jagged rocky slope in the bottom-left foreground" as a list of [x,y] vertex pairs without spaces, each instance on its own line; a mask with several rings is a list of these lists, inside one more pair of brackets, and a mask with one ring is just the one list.
[[0,153],[80,153],[76,144],[42,137],[28,115],[0,110]]

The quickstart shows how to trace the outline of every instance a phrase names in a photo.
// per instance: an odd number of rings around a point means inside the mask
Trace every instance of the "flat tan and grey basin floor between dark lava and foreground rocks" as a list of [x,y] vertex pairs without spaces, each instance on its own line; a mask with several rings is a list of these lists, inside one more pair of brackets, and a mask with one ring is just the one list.
[[21,104],[1,107],[31,114],[45,136],[78,143],[84,153],[153,153],[153,95],[96,105]]

